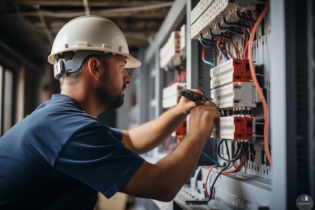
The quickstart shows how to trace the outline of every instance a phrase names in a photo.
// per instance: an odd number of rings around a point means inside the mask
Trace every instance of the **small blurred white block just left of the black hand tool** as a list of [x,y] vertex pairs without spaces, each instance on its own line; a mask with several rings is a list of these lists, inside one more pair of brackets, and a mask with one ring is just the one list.
[[185,88],[186,83],[174,83],[173,85],[164,88],[162,92],[163,93],[162,107],[166,109],[171,108],[178,104],[178,101],[180,99],[178,91]]

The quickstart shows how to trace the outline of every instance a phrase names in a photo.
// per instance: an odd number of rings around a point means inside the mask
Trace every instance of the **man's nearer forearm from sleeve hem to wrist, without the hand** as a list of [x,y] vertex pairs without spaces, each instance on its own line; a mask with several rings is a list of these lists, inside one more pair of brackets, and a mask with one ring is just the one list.
[[206,137],[200,133],[187,134],[161,161],[144,162],[121,191],[138,197],[172,200],[193,173],[205,141]]

